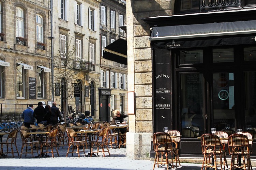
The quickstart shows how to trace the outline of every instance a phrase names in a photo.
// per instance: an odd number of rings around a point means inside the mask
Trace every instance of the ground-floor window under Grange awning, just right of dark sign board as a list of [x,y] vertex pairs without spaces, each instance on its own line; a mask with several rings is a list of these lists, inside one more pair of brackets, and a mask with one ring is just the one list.
[[44,69],[37,66],[36,69],[36,88],[37,88],[37,98],[44,98]]

